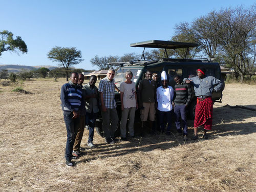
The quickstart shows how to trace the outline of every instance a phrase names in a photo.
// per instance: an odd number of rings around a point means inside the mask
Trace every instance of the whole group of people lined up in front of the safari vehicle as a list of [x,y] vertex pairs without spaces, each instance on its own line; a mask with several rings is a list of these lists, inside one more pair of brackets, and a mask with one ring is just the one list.
[[[203,137],[207,138],[206,131],[211,130],[212,124],[211,92],[219,91],[222,82],[215,77],[206,76],[205,72],[204,68],[199,68],[197,70],[198,76],[185,79],[181,79],[180,76],[176,75],[174,77],[176,85],[173,89],[167,84],[165,71],[161,73],[160,85],[158,75],[152,74],[148,70],[145,73],[145,78],[139,83],[138,95],[136,94],[135,82],[132,81],[133,73],[130,70],[126,71],[126,80],[120,84],[120,90],[115,85],[115,70],[113,68],[109,69],[106,77],[100,80],[98,89],[95,86],[97,81],[95,75],[92,75],[90,81],[83,86],[83,74],[72,73],[71,80],[63,84],[60,94],[63,117],[67,129],[65,152],[67,166],[73,166],[71,160],[78,158],[81,151],[86,150],[80,146],[85,127],[89,130],[88,146],[95,147],[93,136],[95,121],[99,111],[102,116],[102,130],[105,142],[114,144],[117,141],[115,130],[119,119],[116,110],[115,90],[120,93],[121,100],[121,140],[126,141],[126,136],[135,136],[134,119],[137,109],[140,109],[140,119],[142,122],[140,136],[144,136],[146,121],[148,121],[151,134],[156,134],[156,127],[159,124],[160,131],[170,135],[174,111],[177,131],[183,134],[184,140],[188,140],[186,108],[192,94],[190,84],[194,86],[197,96],[194,122],[195,136],[192,139],[198,139],[198,127],[201,125],[204,127]],[[156,111],[158,114],[157,121]],[[129,119],[128,133],[126,133],[127,119]],[[180,119],[183,125],[183,132]]]

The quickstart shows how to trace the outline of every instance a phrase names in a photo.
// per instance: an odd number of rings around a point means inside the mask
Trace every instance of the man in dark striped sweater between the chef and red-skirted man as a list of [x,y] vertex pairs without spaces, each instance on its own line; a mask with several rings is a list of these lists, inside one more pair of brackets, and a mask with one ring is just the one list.
[[183,125],[183,140],[188,140],[187,137],[187,117],[186,117],[186,108],[189,104],[189,101],[192,96],[191,86],[188,83],[182,82],[182,79],[179,75],[174,77],[174,81],[176,82],[174,88],[174,114],[175,114],[175,124],[177,131],[182,134],[180,118],[182,120]]

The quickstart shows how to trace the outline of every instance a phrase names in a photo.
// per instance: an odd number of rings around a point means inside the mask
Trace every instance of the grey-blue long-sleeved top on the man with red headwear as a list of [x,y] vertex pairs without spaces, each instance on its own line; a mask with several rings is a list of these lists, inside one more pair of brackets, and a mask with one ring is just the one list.
[[[184,78],[183,82],[186,80],[191,80],[191,84],[194,86],[195,95],[199,96],[211,96],[212,91],[220,91],[222,87],[222,82],[212,76],[205,76],[204,78],[191,77],[191,78]],[[216,86],[216,87],[214,87]]]

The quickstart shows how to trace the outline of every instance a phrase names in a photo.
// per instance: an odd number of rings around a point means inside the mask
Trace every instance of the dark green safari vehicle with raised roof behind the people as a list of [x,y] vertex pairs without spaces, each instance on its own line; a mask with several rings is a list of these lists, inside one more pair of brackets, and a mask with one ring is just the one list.
[[[197,75],[196,70],[199,67],[204,67],[206,69],[206,75],[214,76],[217,79],[222,80],[224,83],[224,77],[221,76],[221,69],[218,62],[211,62],[207,59],[174,59],[169,58],[167,55],[167,49],[178,49],[178,48],[187,48],[187,52],[190,47],[197,47],[198,44],[194,43],[187,43],[187,42],[174,42],[174,41],[162,41],[162,40],[148,40],[143,42],[136,42],[131,44],[131,47],[142,47],[144,48],[141,59],[135,61],[128,61],[128,62],[115,62],[110,63],[110,65],[120,67],[116,74],[115,74],[115,84],[119,88],[121,82],[125,81],[125,72],[127,70],[131,70],[133,72],[133,81],[136,84],[136,90],[138,91],[139,82],[145,78],[145,73],[147,70],[151,70],[152,73],[157,73],[159,77],[161,77],[161,72],[165,71],[167,74],[169,86],[174,88],[175,81],[174,76],[179,75],[182,79],[194,77]],[[156,60],[145,60],[144,51],[145,48],[158,48],[164,49],[164,57],[162,59]],[[143,59],[142,59],[143,58]],[[161,79],[159,80],[161,81]],[[214,102],[221,102],[222,99],[222,90],[220,92],[212,92],[212,100]],[[193,96],[188,106],[188,113],[191,118],[195,118],[195,108],[196,108],[196,96],[194,93],[194,89],[192,88]],[[116,92],[115,100],[117,103],[117,112],[119,115],[119,121],[121,119],[121,101],[120,101],[120,94]],[[139,110],[136,111],[135,115],[135,132],[136,132],[136,123],[140,122],[139,119]],[[103,136],[102,133],[102,120],[99,117],[96,121],[96,131],[99,135]],[[116,129],[116,136],[120,134],[119,127]]]

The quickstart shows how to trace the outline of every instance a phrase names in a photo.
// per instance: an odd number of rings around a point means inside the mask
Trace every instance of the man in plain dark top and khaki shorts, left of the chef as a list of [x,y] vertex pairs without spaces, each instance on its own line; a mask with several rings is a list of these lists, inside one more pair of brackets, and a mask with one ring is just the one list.
[[155,134],[155,127],[153,127],[153,121],[155,121],[156,114],[156,89],[157,84],[152,80],[152,71],[146,72],[146,78],[140,81],[138,86],[138,100],[140,108],[140,119],[142,121],[141,136],[143,136],[143,129],[145,128],[145,122],[147,117],[149,119],[149,125],[151,134]]

